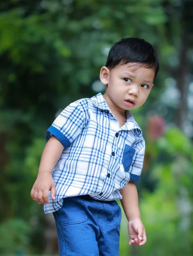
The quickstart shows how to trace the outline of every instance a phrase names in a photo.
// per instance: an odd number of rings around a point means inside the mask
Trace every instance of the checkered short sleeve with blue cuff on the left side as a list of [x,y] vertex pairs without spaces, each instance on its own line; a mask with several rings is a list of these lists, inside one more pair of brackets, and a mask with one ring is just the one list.
[[67,148],[81,133],[86,123],[86,107],[73,102],[68,105],[46,131],[48,141],[54,135]]

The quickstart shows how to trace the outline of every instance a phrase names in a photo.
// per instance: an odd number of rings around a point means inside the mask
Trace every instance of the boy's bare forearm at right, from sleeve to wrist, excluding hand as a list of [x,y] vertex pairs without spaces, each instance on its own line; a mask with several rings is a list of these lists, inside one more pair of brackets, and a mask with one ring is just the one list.
[[128,221],[134,218],[141,218],[139,205],[138,205],[138,192],[133,181],[121,189],[121,205]]

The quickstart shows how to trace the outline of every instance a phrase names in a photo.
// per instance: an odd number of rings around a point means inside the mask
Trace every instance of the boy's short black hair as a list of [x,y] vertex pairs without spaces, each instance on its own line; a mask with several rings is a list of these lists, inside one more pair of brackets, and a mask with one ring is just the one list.
[[106,67],[110,70],[118,64],[141,63],[144,67],[155,68],[155,77],[159,70],[158,55],[153,46],[141,38],[122,38],[109,51]]

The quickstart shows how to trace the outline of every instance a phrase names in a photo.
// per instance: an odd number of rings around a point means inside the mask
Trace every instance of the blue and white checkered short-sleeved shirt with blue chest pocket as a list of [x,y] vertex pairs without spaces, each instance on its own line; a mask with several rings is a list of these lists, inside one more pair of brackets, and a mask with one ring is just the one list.
[[63,144],[53,171],[56,199],[49,195],[46,213],[57,211],[63,198],[90,195],[96,200],[121,199],[129,180],[140,181],[145,143],[132,114],[120,128],[103,95],[80,99],[67,106],[46,132]]

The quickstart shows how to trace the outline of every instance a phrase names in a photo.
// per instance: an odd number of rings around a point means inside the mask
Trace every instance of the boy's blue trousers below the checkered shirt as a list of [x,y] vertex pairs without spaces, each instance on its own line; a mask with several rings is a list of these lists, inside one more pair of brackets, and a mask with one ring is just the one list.
[[54,212],[60,256],[118,256],[121,208],[88,195],[63,199]]

